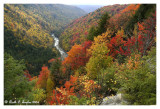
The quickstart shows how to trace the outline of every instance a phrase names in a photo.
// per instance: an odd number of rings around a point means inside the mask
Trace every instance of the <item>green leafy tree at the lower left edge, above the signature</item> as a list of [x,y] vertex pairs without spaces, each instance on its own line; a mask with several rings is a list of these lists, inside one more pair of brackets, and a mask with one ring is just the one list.
[[25,96],[29,83],[24,76],[25,65],[9,54],[4,54],[4,99],[16,100]]

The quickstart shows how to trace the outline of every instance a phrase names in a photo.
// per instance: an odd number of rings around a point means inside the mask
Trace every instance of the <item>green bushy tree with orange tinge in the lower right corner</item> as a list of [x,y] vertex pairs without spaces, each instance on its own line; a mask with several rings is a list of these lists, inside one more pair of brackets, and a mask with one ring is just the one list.
[[156,49],[153,47],[147,56],[133,58],[119,66],[116,78],[118,79],[124,98],[129,104],[155,105],[156,104]]

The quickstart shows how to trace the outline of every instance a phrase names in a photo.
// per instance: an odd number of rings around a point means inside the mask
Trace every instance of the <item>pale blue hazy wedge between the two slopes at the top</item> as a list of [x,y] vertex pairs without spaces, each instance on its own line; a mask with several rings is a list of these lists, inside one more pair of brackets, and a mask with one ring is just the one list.
[[93,12],[96,9],[103,7],[102,5],[75,5],[75,6],[83,9],[87,13]]

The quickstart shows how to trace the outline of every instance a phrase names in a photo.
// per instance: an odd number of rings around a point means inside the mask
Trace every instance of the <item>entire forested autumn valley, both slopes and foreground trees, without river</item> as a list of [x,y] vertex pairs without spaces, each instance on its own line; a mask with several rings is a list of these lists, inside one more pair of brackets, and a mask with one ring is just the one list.
[[5,4],[4,104],[156,105],[156,4]]

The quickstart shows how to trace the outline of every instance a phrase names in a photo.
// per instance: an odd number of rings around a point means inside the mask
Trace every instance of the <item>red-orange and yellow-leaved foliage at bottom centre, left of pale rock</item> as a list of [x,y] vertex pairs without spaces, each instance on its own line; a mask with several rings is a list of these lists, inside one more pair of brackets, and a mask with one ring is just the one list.
[[[93,92],[99,88],[97,83],[89,80],[87,76],[74,77],[70,76],[70,80],[66,81],[64,88],[56,88],[53,90],[51,100],[48,101],[50,105],[66,105],[69,104],[70,96],[92,97]],[[77,93],[76,93],[77,91]]]

